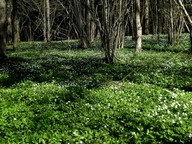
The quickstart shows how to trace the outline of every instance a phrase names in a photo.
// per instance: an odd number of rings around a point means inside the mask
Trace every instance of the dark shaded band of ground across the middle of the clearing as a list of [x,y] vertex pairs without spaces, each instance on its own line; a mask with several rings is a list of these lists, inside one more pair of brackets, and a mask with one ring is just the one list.
[[29,80],[93,88],[101,83],[124,80],[191,91],[191,71],[191,67],[160,67],[155,61],[150,64],[106,64],[101,58],[50,54],[34,59],[11,57],[1,61],[0,72],[4,76],[0,78],[0,85],[10,87]]

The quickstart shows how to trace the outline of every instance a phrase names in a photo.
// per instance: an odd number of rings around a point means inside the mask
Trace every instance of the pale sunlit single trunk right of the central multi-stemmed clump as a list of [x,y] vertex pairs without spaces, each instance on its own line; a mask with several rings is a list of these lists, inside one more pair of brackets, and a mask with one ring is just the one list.
[[137,37],[136,37],[136,52],[142,51],[142,26],[141,26],[141,17],[140,17],[140,0],[135,0],[135,15],[136,15],[136,31],[137,31]]

